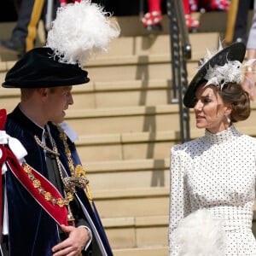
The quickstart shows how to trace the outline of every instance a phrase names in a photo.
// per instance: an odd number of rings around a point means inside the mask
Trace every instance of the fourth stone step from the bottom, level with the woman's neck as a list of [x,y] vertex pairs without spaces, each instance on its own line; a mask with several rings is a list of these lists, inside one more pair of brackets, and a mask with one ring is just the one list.
[[[236,125],[242,133],[256,137],[255,125]],[[191,139],[201,137],[204,130],[192,129]],[[137,160],[166,159],[170,148],[179,143],[179,130],[157,132],[129,132],[80,137],[76,143],[81,160]]]

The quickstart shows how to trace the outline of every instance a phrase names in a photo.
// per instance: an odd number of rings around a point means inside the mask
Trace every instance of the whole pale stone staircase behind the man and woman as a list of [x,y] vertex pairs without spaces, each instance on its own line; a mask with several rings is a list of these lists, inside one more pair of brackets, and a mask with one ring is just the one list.
[[[189,79],[206,48],[214,49],[218,38],[224,38],[226,14],[200,17],[201,31],[189,35]],[[79,133],[79,154],[114,255],[164,256],[168,254],[169,154],[179,143],[178,106],[171,103],[168,22],[164,17],[164,31],[148,35],[138,17],[115,19],[121,36],[110,44],[108,54],[85,67],[90,83],[73,87],[75,103],[66,119]],[[12,27],[0,24],[2,38],[9,38]],[[42,34],[37,44],[44,44]],[[2,83],[16,59],[1,58]],[[19,90],[0,88],[1,108],[11,111],[19,95]],[[252,108],[250,119],[237,126],[256,136],[256,105]],[[201,136],[192,112],[190,120],[191,137]]]

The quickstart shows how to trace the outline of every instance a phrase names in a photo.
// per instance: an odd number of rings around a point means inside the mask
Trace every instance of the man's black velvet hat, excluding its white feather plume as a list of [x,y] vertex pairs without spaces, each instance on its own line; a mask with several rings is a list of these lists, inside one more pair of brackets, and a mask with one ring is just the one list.
[[51,48],[28,51],[6,74],[6,88],[45,88],[84,84],[90,81],[78,64],[67,64],[54,56]]

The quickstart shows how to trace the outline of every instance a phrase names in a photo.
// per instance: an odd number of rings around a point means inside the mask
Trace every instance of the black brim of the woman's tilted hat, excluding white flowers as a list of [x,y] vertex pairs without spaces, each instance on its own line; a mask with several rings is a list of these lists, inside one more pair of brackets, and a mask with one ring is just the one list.
[[206,63],[200,67],[195,77],[189,83],[189,87],[183,97],[183,104],[187,108],[194,108],[195,106],[195,91],[204,81],[209,67],[224,66],[228,61],[240,61],[244,59],[246,53],[246,46],[243,43],[234,43],[221,49],[217,54],[213,55]]

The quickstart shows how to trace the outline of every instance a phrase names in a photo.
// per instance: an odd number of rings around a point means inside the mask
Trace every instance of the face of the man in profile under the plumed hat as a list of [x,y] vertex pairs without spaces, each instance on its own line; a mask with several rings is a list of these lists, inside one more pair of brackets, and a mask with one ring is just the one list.
[[68,105],[73,104],[71,93],[72,86],[59,86],[47,89],[47,100],[45,104],[49,121],[59,124],[65,117]]

